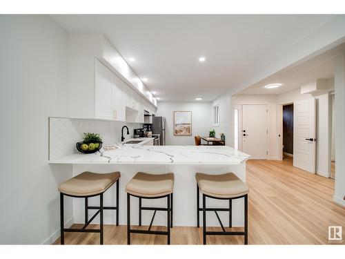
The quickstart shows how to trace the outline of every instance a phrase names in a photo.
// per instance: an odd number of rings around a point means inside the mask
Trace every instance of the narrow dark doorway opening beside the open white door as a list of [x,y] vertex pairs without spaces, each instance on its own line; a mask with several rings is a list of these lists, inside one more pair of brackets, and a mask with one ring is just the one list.
[[293,104],[283,106],[283,160],[293,162]]

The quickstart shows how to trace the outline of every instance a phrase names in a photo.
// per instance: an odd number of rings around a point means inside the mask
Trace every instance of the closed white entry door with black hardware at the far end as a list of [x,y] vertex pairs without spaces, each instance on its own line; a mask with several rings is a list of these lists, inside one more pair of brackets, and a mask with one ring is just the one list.
[[242,107],[243,152],[251,159],[267,159],[267,105]]

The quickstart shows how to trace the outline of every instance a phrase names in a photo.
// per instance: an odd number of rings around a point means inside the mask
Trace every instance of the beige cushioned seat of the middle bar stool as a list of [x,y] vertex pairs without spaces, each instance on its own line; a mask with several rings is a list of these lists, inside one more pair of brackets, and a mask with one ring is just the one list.
[[139,197],[159,197],[172,193],[174,174],[137,173],[126,185],[126,192]]

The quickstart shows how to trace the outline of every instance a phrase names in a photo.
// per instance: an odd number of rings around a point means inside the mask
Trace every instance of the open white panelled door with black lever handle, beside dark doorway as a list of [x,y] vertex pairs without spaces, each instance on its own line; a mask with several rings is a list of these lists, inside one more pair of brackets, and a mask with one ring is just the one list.
[[293,166],[315,173],[315,99],[293,103]]

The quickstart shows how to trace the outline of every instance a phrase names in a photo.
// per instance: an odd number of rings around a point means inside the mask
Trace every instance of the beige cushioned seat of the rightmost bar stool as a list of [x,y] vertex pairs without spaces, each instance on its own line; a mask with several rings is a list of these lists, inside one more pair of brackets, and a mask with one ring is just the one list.
[[222,175],[207,175],[196,173],[197,185],[201,193],[217,198],[236,198],[249,192],[247,184],[234,173]]

